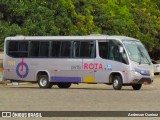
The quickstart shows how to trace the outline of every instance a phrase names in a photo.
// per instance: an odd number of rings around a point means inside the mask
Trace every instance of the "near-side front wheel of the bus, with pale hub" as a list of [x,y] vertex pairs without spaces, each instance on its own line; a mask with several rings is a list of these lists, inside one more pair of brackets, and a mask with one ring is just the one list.
[[113,88],[115,90],[121,90],[122,88],[122,78],[120,76],[113,77]]

